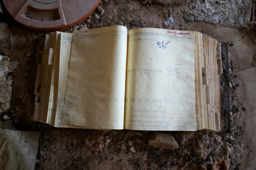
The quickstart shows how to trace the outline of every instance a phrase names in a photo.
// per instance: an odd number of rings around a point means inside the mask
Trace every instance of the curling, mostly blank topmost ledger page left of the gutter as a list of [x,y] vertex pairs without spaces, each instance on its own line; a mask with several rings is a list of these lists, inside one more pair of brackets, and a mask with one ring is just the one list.
[[127,28],[75,31],[61,123],[123,129]]

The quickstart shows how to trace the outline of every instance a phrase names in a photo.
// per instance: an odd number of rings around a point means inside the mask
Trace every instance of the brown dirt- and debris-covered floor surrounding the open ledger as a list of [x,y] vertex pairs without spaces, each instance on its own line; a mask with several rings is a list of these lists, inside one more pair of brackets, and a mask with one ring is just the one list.
[[45,34],[14,21],[2,5],[0,54],[19,63],[8,74],[12,78],[12,97],[4,115],[10,119],[1,117],[3,128],[40,132],[35,169],[254,170],[256,27],[251,22],[253,5],[253,0],[102,0],[86,21],[65,30],[111,25],[124,25],[128,30],[141,27],[189,30],[229,44],[230,132],[164,132],[175,138],[178,149],[148,146],[151,131],[64,129],[33,121],[35,51]]

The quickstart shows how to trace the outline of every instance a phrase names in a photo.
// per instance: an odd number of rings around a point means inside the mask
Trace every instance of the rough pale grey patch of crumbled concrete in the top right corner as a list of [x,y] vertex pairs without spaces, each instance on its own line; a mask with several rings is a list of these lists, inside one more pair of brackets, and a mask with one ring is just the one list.
[[[199,0],[192,3],[184,11],[185,21],[203,21],[206,23],[219,23],[233,28],[249,28],[252,1],[219,1]],[[228,22],[227,22],[228,21]]]

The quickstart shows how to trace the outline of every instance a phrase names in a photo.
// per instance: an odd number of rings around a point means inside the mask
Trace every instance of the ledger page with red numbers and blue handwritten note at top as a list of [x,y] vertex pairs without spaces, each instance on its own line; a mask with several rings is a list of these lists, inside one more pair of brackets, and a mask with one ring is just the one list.
[[195,131],[195,32],[128,32],[125,129]]

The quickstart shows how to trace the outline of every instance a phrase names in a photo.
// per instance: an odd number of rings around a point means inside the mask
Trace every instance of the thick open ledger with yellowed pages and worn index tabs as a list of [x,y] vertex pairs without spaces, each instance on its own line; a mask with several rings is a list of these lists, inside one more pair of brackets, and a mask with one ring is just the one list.
[[220,43],[124,26],[46,35],[34,119],[54,127],[220,130]]

